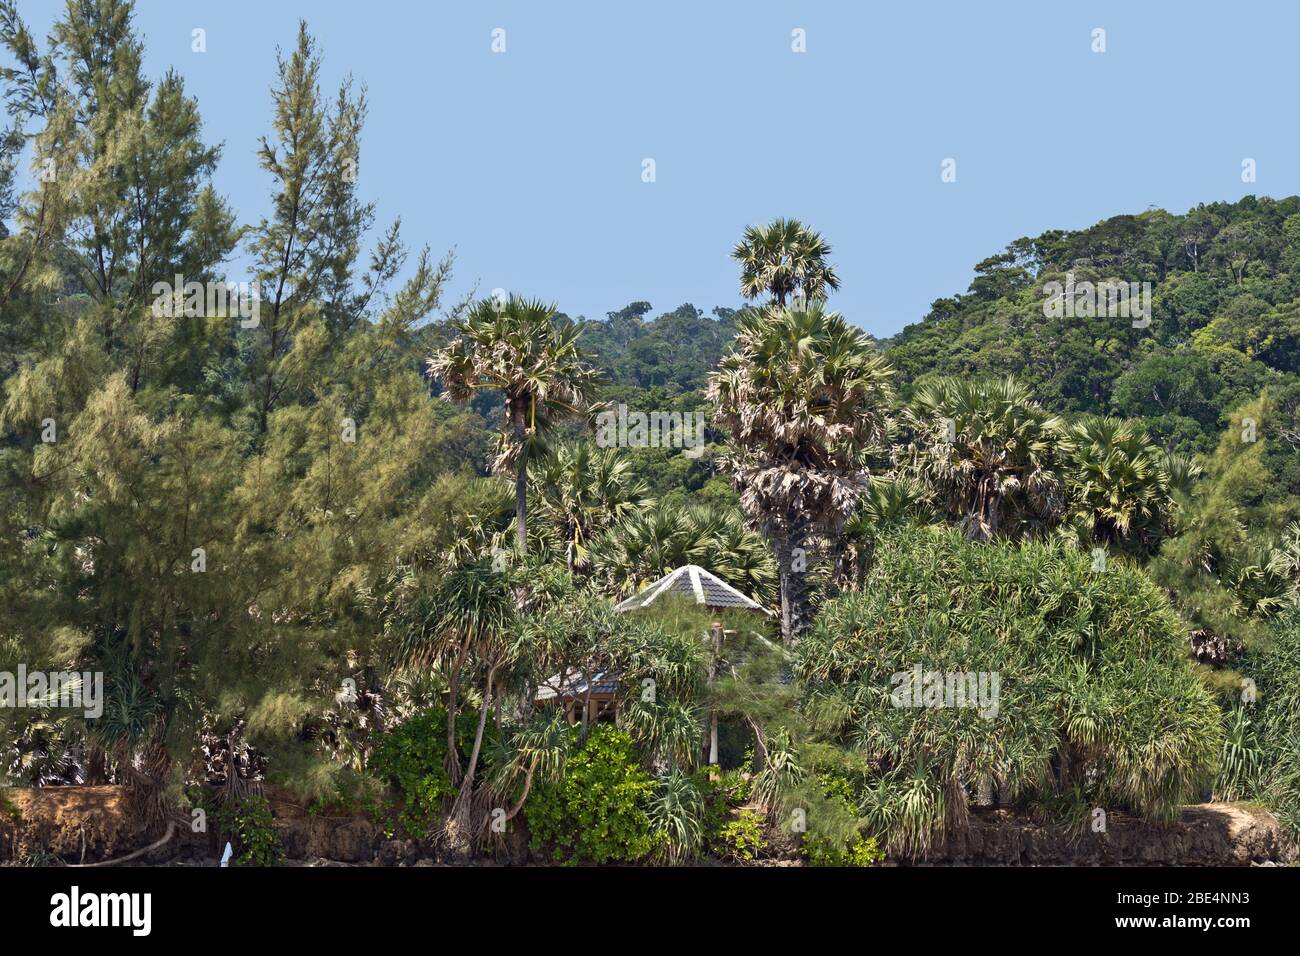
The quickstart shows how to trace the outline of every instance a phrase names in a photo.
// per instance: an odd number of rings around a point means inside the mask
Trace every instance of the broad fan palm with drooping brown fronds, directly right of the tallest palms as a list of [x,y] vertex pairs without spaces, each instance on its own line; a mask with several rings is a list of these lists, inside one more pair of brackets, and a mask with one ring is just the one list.
[[1063,423],[1014,378],[940,378],[916,390],[904,419],[909,470],[968,537],[1041,532],[1063,512]]

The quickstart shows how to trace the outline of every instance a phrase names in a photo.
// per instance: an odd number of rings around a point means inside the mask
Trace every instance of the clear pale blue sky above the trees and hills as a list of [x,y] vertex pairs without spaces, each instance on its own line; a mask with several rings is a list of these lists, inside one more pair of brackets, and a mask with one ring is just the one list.
[[[20,0],[39,34],[61,8]],[[890,334],[1018,237],[1300,193],[1295,4],[140,0],[147,69],[185,74],[243,221],[268,206],[255,147],[299,16],[326,87],[369,87],[380,222],[455,246],[454,291],[571,315],[736,306],[741,230],[794,216],[833,245],[832,304]]]

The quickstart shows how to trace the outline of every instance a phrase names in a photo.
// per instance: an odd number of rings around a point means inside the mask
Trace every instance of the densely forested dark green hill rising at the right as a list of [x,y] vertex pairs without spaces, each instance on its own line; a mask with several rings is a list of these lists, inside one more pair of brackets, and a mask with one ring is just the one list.
[[[1294,381],[1297,212],[1296,196],[1245,196],[1017,239],[885,352],[905,392],[928,376],[1015,375],[1054,412],[1140,416],[1166,450],[1205,451],[1230,408]],[[1150,325],[1105,310],[1045,315],[1044,286],[1066,272],[1150,282]]]

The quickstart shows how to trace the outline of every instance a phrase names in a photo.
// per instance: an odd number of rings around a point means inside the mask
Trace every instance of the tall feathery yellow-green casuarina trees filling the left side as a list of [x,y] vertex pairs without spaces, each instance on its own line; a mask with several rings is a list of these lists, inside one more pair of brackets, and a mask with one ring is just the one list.
[[[485,447],[419,373],[450,260],[372,233],[338,176],[364,96],[322,95],[306,29],[266,103],[268,216],[243,228],[179,74],[144,75],[130,4],[66,7],[48,51],[12,13],[5,99],[60,174],[0,237],[5,653],[105,674],[104,718],[60,731],[62,753],[103,754],[96,783],[199,779],[202,728],[242,721],[283,782],[332,793],[342,767],[315,731],[451,546],[436,477]],[[155,308],[157,282],[224,276],[239,235],[259,323]]]

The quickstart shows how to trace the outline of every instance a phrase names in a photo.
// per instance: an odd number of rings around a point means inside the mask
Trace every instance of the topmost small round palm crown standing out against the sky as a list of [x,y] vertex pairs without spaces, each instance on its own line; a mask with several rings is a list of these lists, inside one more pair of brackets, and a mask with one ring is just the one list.
[[746,226],[732,251],[741,264],[740,293],[757,299],[764,293],[785,306],[796,291],[806,300],[826,298],[840,287],[840,277],[827,264],[831,243],[797,219],[777,219],[766,226]]

